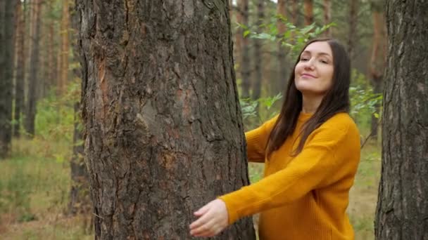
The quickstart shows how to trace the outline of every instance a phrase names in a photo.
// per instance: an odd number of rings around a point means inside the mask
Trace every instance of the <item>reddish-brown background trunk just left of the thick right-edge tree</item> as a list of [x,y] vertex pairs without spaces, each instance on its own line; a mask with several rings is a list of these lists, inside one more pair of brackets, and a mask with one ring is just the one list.
[[[384,31],[384,13],[380,1],[372,1],[373,15],[373,46],[370,65],[370,82],[373,87],[373,93],[382,93],[382,81],[384,79],[384,69],[386,67],[386,33]],[[375,112],[379,114],[380,106],[375,105]],[[379,119],[372,114],[371,136],[377,139],[377,129],[379,128]]]

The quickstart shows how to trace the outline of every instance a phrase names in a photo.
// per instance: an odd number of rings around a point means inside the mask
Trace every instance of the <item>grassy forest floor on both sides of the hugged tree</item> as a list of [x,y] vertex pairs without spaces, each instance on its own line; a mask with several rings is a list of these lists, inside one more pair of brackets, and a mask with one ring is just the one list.
[[[374,239],[380,166],[379,144],[369,142],[362,149],[348,206],[356,240]],[[263,175],[263,165],[250,164],[249,172],[255,182]],[[84,231],[84,218],[65,214],[69,191],[67,161],[25,149],[0,161],[0,239],[94,239]]]

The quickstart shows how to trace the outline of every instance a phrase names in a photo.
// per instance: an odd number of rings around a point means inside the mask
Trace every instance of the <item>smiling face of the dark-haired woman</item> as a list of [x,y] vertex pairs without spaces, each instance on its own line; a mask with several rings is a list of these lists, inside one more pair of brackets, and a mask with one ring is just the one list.
[[309,44],[294,68],[294,81],[303,95],[325,95],[333,81],[333,53],[327,41]]

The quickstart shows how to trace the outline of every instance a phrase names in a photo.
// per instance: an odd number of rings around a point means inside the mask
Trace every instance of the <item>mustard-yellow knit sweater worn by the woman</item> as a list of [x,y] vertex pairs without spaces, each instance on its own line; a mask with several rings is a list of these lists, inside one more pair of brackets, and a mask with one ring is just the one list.
[[260,213],[260,240],[354,239],[346,208],[360,161],[358,129],[348,114],[336,114],[309,135],[300,154],[290,156],[310,116],[300,114],[292,137],[269,160],[265,145],[277,117],[246,133],[248,160],[265,162],[265,177],[220,196],[229,224]]

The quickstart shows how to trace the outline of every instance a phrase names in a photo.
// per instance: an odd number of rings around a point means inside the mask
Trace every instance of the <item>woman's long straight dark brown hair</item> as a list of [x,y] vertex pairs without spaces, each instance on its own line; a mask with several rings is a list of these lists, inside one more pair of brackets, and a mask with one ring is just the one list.
[[301,140],[298,147],[292,153],[294,156],[299,154],[306,139],[316,128],[323,124],[327,119],[331,118],[334,114],[339,112],[349,112],[349,84],[351,82],[351,62],[348,53],[343,45],[335,39],[323,38],[313,39],[308,41],[308,44],[302,49],[298,55],[296,63],[294,64],[291,76],[288,81],[287,91],[285,92],[284,102],[282,104],[281,112],[279,113],[277,122],[270,132],[269,140],[266,145],[267,157],[269,158],[272,152],[276,151],[284,144],[285,140],[293,134],[296,128],[298,116],[302,110],[303,96],[297,90],[294,81],[294,69],[300,60],[302,52],[309,44],[315,41],[327,41],[333,53],[333,79],[332,88],[327,91],[325,97],[322,99],[320,106],[317,108],[313,116],[306,121],[301,130]]

